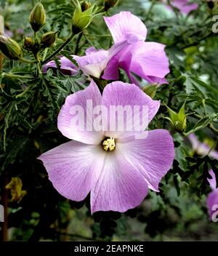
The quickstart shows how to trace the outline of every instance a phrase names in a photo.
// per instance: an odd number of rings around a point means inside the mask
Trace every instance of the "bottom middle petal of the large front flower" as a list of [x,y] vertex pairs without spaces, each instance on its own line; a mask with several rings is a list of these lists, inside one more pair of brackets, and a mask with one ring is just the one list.
[[124,161],[122,152],[107,154],[97,184],[91,191],[91,211],[126,212],[139,206],[148,185],[137,169]]

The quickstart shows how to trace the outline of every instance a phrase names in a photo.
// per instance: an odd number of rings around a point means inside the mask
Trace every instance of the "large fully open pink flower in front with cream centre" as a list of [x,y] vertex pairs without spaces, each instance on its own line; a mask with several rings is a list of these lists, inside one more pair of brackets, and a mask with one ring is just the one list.
[[[135,135],[143,131],[110,132],[104,124],[100,131],[76,131],[72,126],[75,110],[78,105],[86,110],[87,100],[92,100],[93,108],[101,105],[108,111],[110,106],[134,108],[137,105],[140,121],[144,118],[143,106],[146,106],[148,122],[156,115],[160,102],[152,100],[136,85],[121,81],[108,84],[101,95],[92,81],[86,89],[67,97],[58,116],[58,129],[71,141],[39,157],[49,180],[62,196],[81,201],[90,192],[92,212],[125,212],[142,202],[148,188],[158,191],[158,184],[174,159],[172,137],[167,130],[156,129],[139,139]],[[86,110],[84,127],[93,127],[93,119]],[[110,119],[109,124],[114,122]],[[126,122],[132,122],[132,118],[126,117]]]

